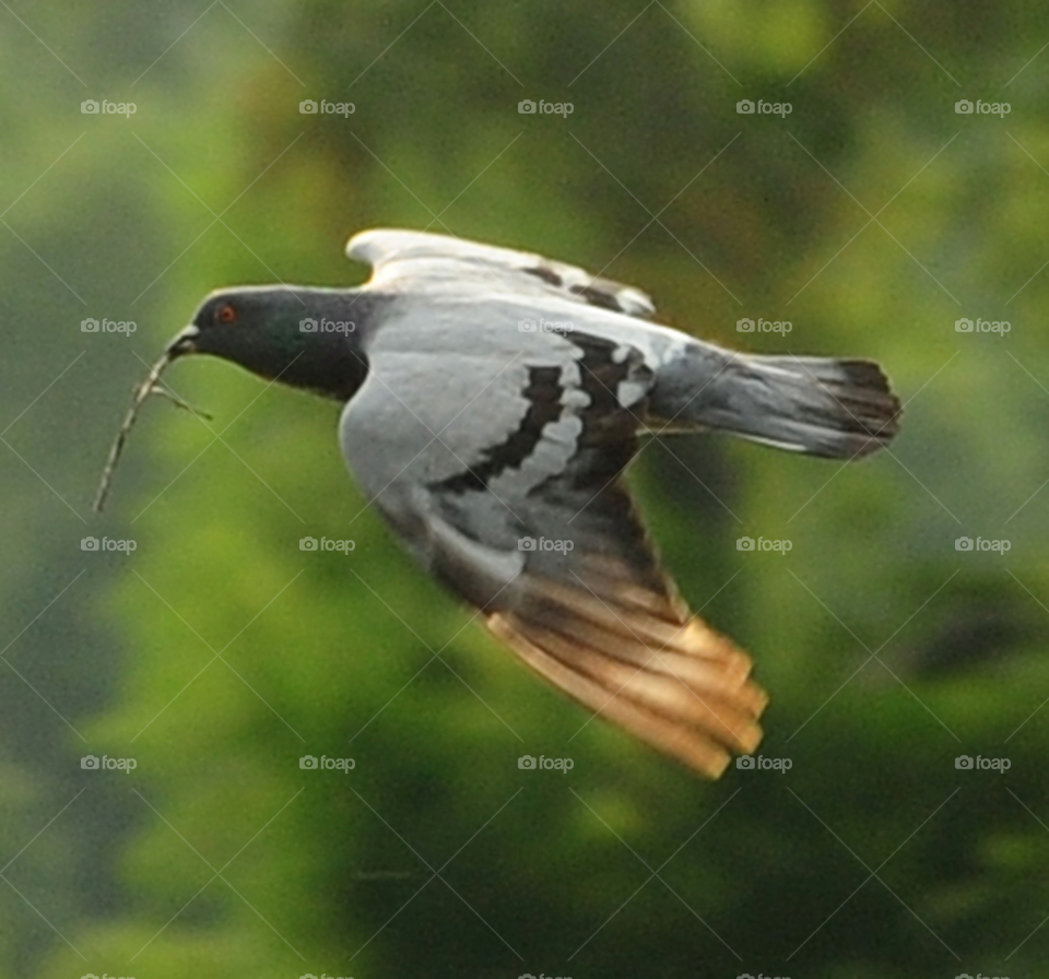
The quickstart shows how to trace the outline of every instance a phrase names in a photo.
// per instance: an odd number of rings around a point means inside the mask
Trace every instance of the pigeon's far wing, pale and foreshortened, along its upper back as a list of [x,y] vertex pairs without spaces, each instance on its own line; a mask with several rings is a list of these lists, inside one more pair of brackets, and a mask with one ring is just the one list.
[[432,287],[461,287],[464,281],[474,280],[506,292],[556,294],[644,319],[656,312],[652,300],[633,286],[539,255],[448,235],[376,228],[354,235],[346,255],[372,266],[369,286],[396,287],[404,282],[414,286],[426,280]]

